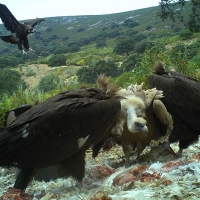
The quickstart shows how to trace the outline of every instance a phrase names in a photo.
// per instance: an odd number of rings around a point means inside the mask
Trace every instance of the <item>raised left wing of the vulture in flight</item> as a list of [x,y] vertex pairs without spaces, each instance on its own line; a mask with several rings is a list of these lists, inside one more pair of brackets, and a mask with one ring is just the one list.
[[21,24],[17,21],[17,19],[4,4],[0,4],[0,18],[4,23],[6,29],[11,31],[12,33],[15,33],[17,27],[21,26]]

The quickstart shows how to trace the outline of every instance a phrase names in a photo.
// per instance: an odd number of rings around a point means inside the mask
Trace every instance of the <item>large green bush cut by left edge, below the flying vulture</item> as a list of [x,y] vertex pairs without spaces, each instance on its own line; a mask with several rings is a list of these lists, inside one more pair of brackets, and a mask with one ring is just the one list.
[[19,87],[26,88],[25,82],[21,79],[19,72],[10,69],[0,70],[0,96],[4,93],[11,95],[17,91]]

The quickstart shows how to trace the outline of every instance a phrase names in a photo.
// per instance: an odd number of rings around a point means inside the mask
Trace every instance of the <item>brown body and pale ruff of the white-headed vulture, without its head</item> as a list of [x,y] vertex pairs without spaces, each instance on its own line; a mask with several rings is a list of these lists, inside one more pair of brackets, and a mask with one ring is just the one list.
[[135,94],[143,98],[146,103],[146,120],[148,133],[141,131],[132,134],[124,125],[122,135],[117,142],[123,148],[125,154],[125,166],[129,167],[129,158],[133,151],[137,152],[137,161],[140,159],[142,151],[152,140],[158,140],[167,133],[169,127],[169,116],[164,104],[160,101],[162,91],[155,88],[152,90],[142,90],[142,85],[131,85],[128,90],[124,90],[126,95]]

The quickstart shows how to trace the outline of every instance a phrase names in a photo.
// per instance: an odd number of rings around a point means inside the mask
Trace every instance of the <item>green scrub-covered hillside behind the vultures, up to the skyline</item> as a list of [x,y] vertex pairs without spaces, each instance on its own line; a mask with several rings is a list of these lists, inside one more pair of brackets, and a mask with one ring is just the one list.
[[[185,7],[184,16],[190,8]],[[200,80],[200,34],[189,31],[184,21],[162,22],[152,14],[158,10],[153,7],[112,15],[47,18],[31,35],[35,52],[27,55],[15,45],[1,43],[0,126],[7,110],[26,103],[34,105],[82,84],[94,86],[101,73],[122,87],[141,82],[147,87],[147,76],[160,60],[167,69]],[[2,34],[3,28],[0,25]],[[35,87],[27,86],[22,79],[37,74],[30,64],[47,64],[52,69]],[[64,65],[80,69],[66,75]]]

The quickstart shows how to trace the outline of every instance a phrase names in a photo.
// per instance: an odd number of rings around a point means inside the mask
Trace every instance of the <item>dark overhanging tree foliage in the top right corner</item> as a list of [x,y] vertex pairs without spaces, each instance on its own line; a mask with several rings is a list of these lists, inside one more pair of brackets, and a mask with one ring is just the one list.
[[200,1],[199,0],[161,0],[159,3],[160,11],[156,13],[163,21],[171,19],[175,22],[177,19],[183,22],[184,7],[190,6],[189,18],[187,24],[191,32],[200,31]]

